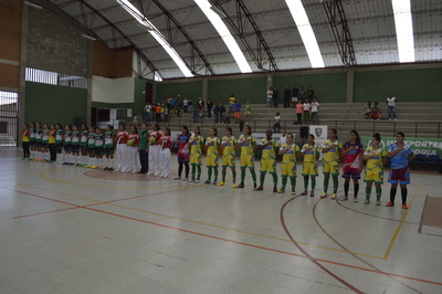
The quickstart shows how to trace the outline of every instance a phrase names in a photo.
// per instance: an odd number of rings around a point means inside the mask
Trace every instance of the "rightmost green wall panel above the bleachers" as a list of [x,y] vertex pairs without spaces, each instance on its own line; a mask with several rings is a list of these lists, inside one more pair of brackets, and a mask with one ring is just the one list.
[[385,102],[390,93],[399,102],[441,102],[442,69],[355,73],[355,102]]

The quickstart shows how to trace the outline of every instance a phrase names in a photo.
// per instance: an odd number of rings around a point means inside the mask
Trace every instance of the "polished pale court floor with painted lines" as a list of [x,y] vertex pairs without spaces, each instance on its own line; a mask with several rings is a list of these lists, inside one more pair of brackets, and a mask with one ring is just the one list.
[[377,207],[364,183],[359,203],[320,199],[322,176],[315,197],[301,178],[276,195],[249,172],[244,189],[230,172],[224,187],[171,180],[175,156],[159,179],[0,148],[0,293],[442,293],[435,171],[412,171],[403,210],[399,192],[385,207],[388,183]]

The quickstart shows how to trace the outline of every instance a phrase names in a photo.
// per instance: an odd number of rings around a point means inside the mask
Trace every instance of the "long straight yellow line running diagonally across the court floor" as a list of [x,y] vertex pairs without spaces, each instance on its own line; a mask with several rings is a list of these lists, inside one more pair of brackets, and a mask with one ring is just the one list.
[[[30,187],[30,186],[28,186],[28,185],[21,185],[21,186]],[[193,186],[193,187],[202,187],[202,186]],[[35,188],[35,187],[30,187],[30,188]],[[108,187],[108,188],[109,188],[109,187]],[[46,189],[42,189],[42,188],[35,188],[35,189],[43,190],[43,191],[46,191],[46,192],[53,192],[53,193],[59,193],[59,195],[63,195],[63,196],[69,196],[69,197],[73,197],[73,198],[78,198],[78,199],[83,199],[83,200],[88,200],[88,201],[92,201],[92,202],[95,202],[95,203],[107,204],[107,206],[113,206],[113,207],[117,207],[117,208],[123,208],[123,209],[127,209],[127,210],[131,210],[131,211],[148,213],[148,214],[152,214],[152,216],[157,216],[157,217],[164,217],[164,218],[168,218],[168,219],[175,219],[175,220],[180,220],[180,221],[185,221],[185,222],[190,222],[190,223],[207,225],[207,227],[211,227],[211,228],[217,228],[217,229],[222,229],[222,230],[228,230],[228,231],[234,231],[234,232],[239,232],[239,233],[244,233],[244,234],[250,234],[250,235],[256,235],[256,237],[267,238],[267,239],[272,239],[272,240],[278,240],[278,241],[284,241],[284,242],[291,242],[291,243],[293,243],[293,241],[292,241],[292,240],[288,240],[288,239],[283,239],[283,238],[277,238],[277,237],[272,237],[272,235],[265,235],[265,234],[260,234],[260,233],[252,233],[252,232],[242,231],[242,230],[236,230],[236,229],[231,229],[231,228],[227,228],[227,227],[221,227],[221,225],[215,225],[215,224],[210,224],[210,223],[204,223],[204,222],[199,222],[199,221],[193,221],[193,220],[188,220],[188,219],[182,219],[182,218],[177,218],[177,217],[171,217],[171,216],[161,214],[161,213],[151,212],[151,211],[146,211],[146,210],[141,210],[141,209],[124,207],[124,206],[119,206],[119,204],[115,204],[115,203],[102,202],[102,201],[93,200],[93,199],[85,198],[85,197],[67,195],[67,193],[57,192],[57,191],[51,191],[51,190],[46,190]],[[131,199],[127,199],[127,200],[131,200]],[[327,248],[327,246],[322,246],[322,245],[315,245],[315,244],[309,244],[309,243],[304,243],[304,242],[296,242],[296,243],[297,243],[297,244],[303,244],[303,245],[308,245],[308,246],[314,246],[314,248],[326,249],[326,250],[330,250],[330,251],[337,251],[337,252],[343,252],[343,253],[349,253],[349,254],[366,256],[366,258],[382,259],[382,258],[373,256],[373,255],[369,255],[369,254],[357,253],[357,252],[350,252],[350,251],[346,251],[346,250],[334,249],[334,248]]]

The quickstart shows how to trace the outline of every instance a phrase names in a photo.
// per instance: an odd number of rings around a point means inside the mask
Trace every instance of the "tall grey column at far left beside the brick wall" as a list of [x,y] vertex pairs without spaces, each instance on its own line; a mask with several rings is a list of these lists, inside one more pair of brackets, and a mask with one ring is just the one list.
[[20,88],[19,88],[19,125],[17,127],[17,144],[21,145],[21,129],[25,124],[27,114],[27,82],[24,80],[28,63],[28,22],[29,7],[22,6],[21,10],[21,40],[20,40]]

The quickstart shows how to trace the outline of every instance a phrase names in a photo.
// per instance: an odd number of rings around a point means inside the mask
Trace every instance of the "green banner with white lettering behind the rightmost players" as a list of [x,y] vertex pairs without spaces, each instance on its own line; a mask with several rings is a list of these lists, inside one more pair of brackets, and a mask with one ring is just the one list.
[[[362,145],[368,147],[371,137],[361,137]],[[388,151],[388,147],[396,141],[393,137],[382,137],[379,146]],[[414,155],[439,155],[442,157],[442,139],[427,139],[427,138],[406,138],[404,143],[413,149]]]

